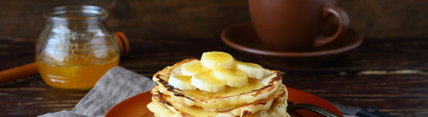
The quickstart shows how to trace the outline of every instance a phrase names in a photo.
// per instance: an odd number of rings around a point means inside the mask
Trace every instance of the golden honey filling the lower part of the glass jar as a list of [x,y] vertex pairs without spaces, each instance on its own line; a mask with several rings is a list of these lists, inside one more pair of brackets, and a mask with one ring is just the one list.
[[[40,54],[40,56],[45,56]],[[68,90],[89,90],[94,87],[108,69],[119,64],[119,56],[114,52],[109,54],[111,60],[105,62],[91,62],[93,54],[83,55],[86,59],[65,61],[61,64],[45,63],[36,59],[40,75],[46,84]]]

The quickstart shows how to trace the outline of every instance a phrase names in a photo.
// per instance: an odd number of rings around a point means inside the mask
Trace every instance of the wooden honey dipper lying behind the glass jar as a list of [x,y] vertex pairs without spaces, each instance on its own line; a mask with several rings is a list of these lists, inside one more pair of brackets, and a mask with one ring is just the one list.
[[[126,38],[125,34],[122,32],[115,32],[114,36],[119,45],[119,52],[121,57],[129,53],[129,42],[128,38]],[[30,75],[35,75],[39,73],[37,70],[36,62],[28,63],[22,66],[17,66],[14,68],[6,69],[0,71],[0,83],[13,81],[18,78],[23,78]]]

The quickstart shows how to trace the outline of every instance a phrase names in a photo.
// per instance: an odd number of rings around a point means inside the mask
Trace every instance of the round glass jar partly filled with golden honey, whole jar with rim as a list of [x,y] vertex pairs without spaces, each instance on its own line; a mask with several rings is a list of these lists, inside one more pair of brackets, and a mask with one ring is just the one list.
[[45,29],[36,43],[43,81],[65,90],[89,90],[119,64],[119,47],[107,28],[106,9],[61,6],[44,14]]

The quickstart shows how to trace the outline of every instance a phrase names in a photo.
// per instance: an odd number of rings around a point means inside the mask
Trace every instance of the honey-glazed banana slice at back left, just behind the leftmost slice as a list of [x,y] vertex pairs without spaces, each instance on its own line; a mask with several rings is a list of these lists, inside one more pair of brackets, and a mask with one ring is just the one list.
[[208,72],[209,69],[206,69],[201,65],[200,60],[193,60],[187,63],[184,63],[183,66],[181,66],[181,74],[186,76],[192,76],[196,73],[202,73],[202,72]]

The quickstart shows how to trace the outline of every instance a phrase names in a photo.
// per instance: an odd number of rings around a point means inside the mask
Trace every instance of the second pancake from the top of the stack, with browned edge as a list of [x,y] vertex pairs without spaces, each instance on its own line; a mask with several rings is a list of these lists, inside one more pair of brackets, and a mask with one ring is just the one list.
[[[175,102],[170,98],[170,96],[160,93],[157,87],[154,87],[152,90],[152,100],[153,102],[159,102],[164,104],[170,111],[175,114],[180,114],[183,117],[236,117],[241,116],[242,114],[253,114],[257,111],[266,111],[268,110],[274,102],[284,102],[288,93],[285,88],[285,85],[278,87],[278,90],[275,91],[271,96],[266,99],[262,99],[247,105],[234,108],[229,111],[207,111],[201,107],[197,106],[186,106],[178,102]],[[275,106],[275,105],[274,105]]]

